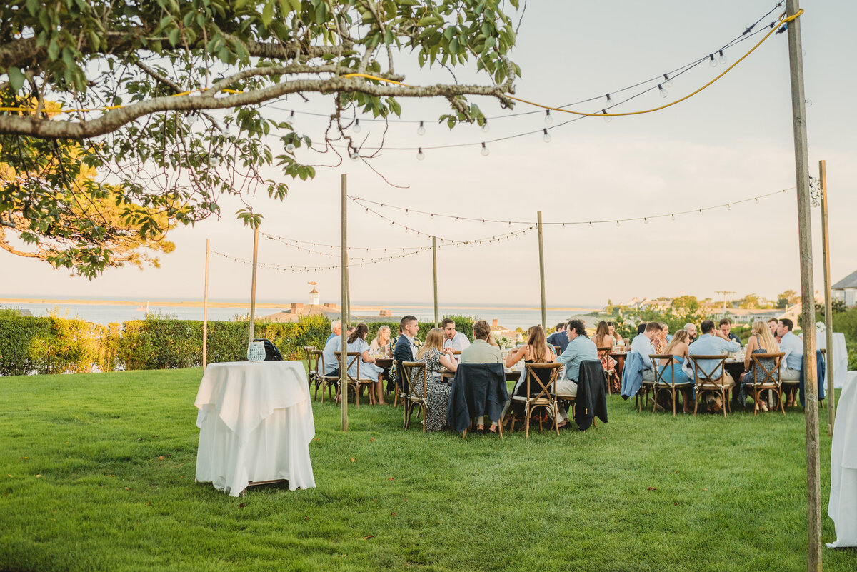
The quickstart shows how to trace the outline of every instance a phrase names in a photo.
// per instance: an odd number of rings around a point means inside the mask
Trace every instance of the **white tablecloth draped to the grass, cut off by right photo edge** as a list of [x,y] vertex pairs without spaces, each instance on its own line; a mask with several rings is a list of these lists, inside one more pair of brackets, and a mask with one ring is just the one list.
[[857,375],[848,376],[830,444],[830,503],[827,515],[836,528],[828,548],[857,546]]

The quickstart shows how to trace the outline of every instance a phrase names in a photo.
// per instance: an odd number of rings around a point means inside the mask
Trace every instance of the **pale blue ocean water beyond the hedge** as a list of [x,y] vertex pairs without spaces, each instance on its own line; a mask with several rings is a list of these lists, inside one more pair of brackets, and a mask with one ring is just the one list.
[[[21,296],[23,299],[23,296]],[[80,301],[80,300],[79,300]],[[143,319],[146,317],[147,303],[145,301],[139,304],[123,304],[120,301],[99,301],[100,303],[67,303],[63,301],[4,301],[3,307],[16,307],[27,309],[33,313],[33,316],[47,316],[49,313],[55,313],[60,317],[80,318],[96,324],[111,324],[114,322],[125,322],[132,319]],[[113,302],[113,303],[111,303]],[[159,302],[161,304],[159,304]],[[159,300],[148,302],[148,312],[157,314],[162,317],[174,319],[202,319],[201,302],[186,302],[199,303],[199,306],[171,306],[165,305],[164,302],[182,302],[180,299]],[[249,314],[249,304],[242,304],[236,301],[212,301],[212,303],[223,304],[223,307],[208,307],[208,319],[210,320],[225,320],[231,321],[237,317],[246,316]],[[235,306],[228,304],[235,303]],[[275,301],[259,301],[257,302],[256,315],[259,317],[273,314],[285,309],[286,305],[279,307],[259,307],[258,304],[276,304]],[[416,316],[421,322],[430,322],[434,320],[434,307],[429,303],[396,303],[396,304],[375,304],[372,302],[355,302],[352,314],[355,317],[360,316],[377,316],[380,309],[387,309],[393,313],[393,318],[399,318],[406,314]],[[596,308],[583,307],[548,307],[548,328],[553,328],[559,322],[569,319],[572,315],[579,313],[587,313]],[[466,304],[450,304],[448,306],[441,305],[438,314],[440,317],[444,315],[465,315],[473,316],[479,319],[488,320],[491,323],[496,319],[499,325],[509,329],[523,328],[526,330],[530,325],[536,325],[542,321],[542,310],[539,307],[519,307],[519,306],[502,306],[502,305],[466,305]]]

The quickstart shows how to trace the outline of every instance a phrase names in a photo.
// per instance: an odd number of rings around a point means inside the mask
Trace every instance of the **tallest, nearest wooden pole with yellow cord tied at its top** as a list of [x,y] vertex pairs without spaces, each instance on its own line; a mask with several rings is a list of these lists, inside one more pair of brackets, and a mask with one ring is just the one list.
[[[786,0],[786,14],[798,12],[798,0]],[[794,170],[797,179],[798,241],[800,252],[801,329],[804,343],[804,396],[806,405],[806,516],[808,572],[821,572],[821,488],[818,459],[818,380],[815,363],[815,293],[812,284],[812,216],[809,193],[809,152],[806,144],[806,99],[800,18],[788,22],[788,63],[791,75],[794,125]]]

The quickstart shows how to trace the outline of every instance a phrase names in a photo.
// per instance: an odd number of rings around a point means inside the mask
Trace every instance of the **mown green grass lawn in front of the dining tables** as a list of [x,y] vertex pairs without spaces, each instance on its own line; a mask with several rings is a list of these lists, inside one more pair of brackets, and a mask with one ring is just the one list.
[[318,488],[231,498],[194,481],[200,378],[0,378],[0,570],[806,569],[800,408],[674,419],[612,396],[608,425],[527,441],[404,432],[390,406],[351,406],[344,434],[326,401]]

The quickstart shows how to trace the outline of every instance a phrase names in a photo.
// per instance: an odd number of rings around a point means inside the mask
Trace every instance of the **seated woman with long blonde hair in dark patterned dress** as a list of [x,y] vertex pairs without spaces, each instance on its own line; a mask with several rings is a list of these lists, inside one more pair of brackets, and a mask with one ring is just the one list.
[[[452,388],[440,381],[440,370],[446,367],[451,372],[458,368],[458,364],[452,359],[452,349],[443,348],[443,330],[432,328],[428,331],[426,341],[417,352],[417,361],[426,365],[427,395],[426,407],[428,414],[423,420],[426,431],[440,431],[446,426],[446,406],[449,404],[449,393]],[[434,375],[437,373],[438,375]],[[414,393],[423,396],[423,375],[417,373],[417,377],[411,380],[414,384]]]

